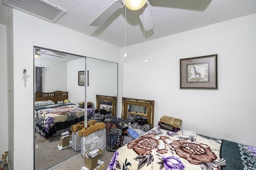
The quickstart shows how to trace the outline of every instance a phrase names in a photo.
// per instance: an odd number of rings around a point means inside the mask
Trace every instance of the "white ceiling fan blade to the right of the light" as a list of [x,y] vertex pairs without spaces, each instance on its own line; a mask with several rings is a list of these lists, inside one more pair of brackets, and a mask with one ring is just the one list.
[[150,29],[153,29],[155,27],[147,4],[145,4],[143,7],[143,13],[140,14],[140,20],[145,31],[149,31]]

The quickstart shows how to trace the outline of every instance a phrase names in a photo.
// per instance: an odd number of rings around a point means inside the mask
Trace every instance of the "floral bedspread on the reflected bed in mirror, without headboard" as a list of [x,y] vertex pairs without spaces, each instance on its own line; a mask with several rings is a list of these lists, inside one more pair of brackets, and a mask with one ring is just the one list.
[[[46,139],[71,125],[84,120],[84,109],[72,103],[54,104],[35,108],[35,127]],[[60,134],[59,134],[60,135]]]

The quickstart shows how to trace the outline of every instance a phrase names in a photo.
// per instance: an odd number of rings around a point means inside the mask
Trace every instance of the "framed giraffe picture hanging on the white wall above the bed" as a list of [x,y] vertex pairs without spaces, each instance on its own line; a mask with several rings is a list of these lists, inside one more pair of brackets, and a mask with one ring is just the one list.
[[180,89],[218,90],[218,55],[180,59]]

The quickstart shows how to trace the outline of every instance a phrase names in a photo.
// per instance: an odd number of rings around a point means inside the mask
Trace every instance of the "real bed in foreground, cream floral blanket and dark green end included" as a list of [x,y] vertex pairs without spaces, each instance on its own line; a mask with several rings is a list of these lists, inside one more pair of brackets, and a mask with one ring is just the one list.
[[108,170],[256,170],[256,147],[154,127],[120,147]]

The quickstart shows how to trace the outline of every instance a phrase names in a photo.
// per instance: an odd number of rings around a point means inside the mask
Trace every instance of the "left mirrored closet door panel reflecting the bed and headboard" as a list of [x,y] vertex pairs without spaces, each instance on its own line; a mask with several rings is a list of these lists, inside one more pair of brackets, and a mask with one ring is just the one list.
[[[46,169],[78,154],[71,148],[60,153],[60,133],[84,120],[85,87],[78,86],[78,71],[85,70],[85,57],[34,47],[35,65],[35,169]],[[58,109],[66,107],[69,113]],[[53,112],[51,112],[53,111]],[[74,114],[71,114],[74,113]]]

